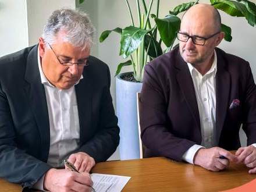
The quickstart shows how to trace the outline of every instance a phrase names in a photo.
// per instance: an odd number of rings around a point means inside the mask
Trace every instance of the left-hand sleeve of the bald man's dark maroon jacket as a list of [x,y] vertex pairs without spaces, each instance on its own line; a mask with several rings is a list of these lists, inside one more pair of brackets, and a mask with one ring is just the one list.
[[172,133],[165,97],[167,86],[163,75],[160,76],[151,65],[145,66],[140,96],[141,140],[152,156],[182,161],[184,152],[196,143]]

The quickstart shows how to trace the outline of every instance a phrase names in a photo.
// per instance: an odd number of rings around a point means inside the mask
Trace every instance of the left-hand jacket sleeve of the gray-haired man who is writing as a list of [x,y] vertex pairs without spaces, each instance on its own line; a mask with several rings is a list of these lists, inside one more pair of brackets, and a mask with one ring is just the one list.
[[0,177],[31,187],[51,166],[17,146],[14,127],[8,98],[0,84]]

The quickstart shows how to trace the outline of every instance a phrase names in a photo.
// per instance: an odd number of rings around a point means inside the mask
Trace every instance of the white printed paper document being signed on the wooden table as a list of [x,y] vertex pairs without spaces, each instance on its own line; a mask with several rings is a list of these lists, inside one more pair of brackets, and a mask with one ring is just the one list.
[[131,177],[92,173],[93,188],[96,192],[119,192]]

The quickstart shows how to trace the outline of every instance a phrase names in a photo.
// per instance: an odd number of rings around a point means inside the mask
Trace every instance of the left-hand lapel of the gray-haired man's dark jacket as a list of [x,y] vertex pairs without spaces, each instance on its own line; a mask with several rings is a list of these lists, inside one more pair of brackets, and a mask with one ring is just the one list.
[[47,100],[45,97],[44,85],[41,83],[40,72],[38,69],[37,48],[34,46],[27,56],[27,65],[25,80],[28,84],[24,90],[29,98],[30,106],[33,111],[35,122],[41,137],[41,148],[46,149],[43,153],[42,159],[47,161],[49,152],[49,116],[47,108]]

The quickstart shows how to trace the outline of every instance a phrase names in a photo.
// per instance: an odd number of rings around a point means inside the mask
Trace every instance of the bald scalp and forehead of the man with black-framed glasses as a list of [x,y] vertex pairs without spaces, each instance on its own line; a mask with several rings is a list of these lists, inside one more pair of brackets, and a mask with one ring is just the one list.
[[198,27],[204,26],[212,33],[221,31],[221,15],[214,6],[209,4],[198,3],[191,6],[183,15],[182,23],[184,22],[197,24]]

